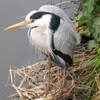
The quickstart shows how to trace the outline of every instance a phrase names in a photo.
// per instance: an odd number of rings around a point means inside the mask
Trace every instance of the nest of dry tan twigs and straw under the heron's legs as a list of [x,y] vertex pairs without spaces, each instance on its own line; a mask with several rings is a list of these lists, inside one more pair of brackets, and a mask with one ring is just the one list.
[[[15,92],[11,98],[20,100],[85,100],[89,94],[90,86],[84,76],[91,65],[91,60],[96,56],[97,50],[87,51],[87,44],[76,47],[74,64],[66,71],[66,90],[60,95],[63,78],[63,69],[52,64],[50,73],[50,92],[42,95],[48,81],[47,60],[20,69],[11,67],[11,85]],[[16,83],[16,82],[19,82]]]

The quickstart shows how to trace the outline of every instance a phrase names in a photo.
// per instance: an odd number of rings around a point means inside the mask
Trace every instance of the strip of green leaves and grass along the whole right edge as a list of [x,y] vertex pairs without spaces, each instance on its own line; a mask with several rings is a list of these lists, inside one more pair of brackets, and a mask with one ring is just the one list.
[[[89,83],[89,98],[87,100],[100,100],[100,0],[79,0],[81,10],[74,18],[81,40],[88,37],[88,50],[97,50],[97,56],[91,60],[92,64],[87,69],[85,81]],[[81,4],[80,3],[80,4]]]

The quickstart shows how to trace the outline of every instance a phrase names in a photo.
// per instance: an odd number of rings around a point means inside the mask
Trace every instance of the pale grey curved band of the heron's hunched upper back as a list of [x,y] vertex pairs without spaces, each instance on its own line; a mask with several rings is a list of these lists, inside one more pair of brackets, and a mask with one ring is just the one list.
[[58,15],[59,17],[61,17],[62,19],[64,19],[66,21],[65,24],[69,27],[68,29],[70,29],[72,31],[72,34],[78,40],[77,31],[76,31],[75,27],[73,26],[71,20],[65,14],[65,12],[63,10],[61,10],[59,7],[52,6],[52,5],[43,5],[42,7],[40,7],[40,9],[38,11],[54,13],[54,14]]

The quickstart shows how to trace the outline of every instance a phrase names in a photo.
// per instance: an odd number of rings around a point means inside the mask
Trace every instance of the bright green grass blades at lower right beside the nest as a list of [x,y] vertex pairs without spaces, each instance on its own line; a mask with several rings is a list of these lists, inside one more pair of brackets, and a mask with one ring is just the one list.
[[91,66],[87,70],[86,81],[90,85],[90,97],[87,100],[100,99],[100,48],[98,55],[92,60]]

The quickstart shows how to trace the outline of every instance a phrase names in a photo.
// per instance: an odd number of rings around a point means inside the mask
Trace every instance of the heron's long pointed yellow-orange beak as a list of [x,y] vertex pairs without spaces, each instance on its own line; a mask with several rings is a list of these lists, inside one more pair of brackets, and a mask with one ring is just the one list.
[[14,30],[17,28],[23,28],[23,27],[26,27],[29,23],[30,23],[30,21],[23,21],[23,22],[14,24],[12,26],[9,26],[9,27],[5,28],[4,30],[7,31],[7,30]]

